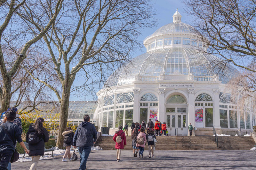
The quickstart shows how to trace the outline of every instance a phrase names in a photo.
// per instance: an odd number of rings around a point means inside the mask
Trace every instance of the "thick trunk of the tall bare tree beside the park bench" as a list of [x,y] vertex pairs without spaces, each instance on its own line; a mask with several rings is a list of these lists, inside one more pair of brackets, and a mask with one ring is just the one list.
[[64,137],[62,135],[62,132],[64,132],[67,128],[70,88],[71,88],[71,85],[69,82],[63,85],[62,99],[60,103],[60,123],[59,123],[58,139],[56,143],[56,146],[58,148],[63,148]]

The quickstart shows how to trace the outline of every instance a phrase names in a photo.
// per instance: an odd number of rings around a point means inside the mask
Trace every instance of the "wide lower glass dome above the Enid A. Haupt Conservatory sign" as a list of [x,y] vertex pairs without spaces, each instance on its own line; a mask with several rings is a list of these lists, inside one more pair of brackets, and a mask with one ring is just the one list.
[[[108,85],[130,84],[135,80],[136,75],[159,76],[171,75],[177,72],[183,75],[193,74],[194,76],[219,75],[219,80],[227,84],[231,78],[238,74],[238,71],[231,65],[224,70],[217,65],[211,65],[220,58],[214,55],[206,55],[202,52],[185,47],[161,48],[137,56],[127,63],[125,69],[119,69],[119,77],[110,76]],[[211,63],[209,65],[209,63]],[[220,72],[221,70],[221,72]]]

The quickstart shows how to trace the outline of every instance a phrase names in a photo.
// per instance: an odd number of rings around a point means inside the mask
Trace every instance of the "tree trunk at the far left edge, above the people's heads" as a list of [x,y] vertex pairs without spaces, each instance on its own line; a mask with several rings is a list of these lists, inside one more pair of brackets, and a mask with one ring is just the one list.
[[1,109],[0,112],[5,112],[8,107],[10,107],[11,100],[11,88],[12,88],[12,78],[3,78],[3,94],[1,96]]

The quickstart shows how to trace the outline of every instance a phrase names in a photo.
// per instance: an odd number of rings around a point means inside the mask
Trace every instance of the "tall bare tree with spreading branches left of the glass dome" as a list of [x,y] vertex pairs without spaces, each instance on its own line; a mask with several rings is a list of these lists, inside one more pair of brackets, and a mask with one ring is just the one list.
[[[70,93],[81,88],[93,92],[94,86],[106,81],[105,75],[121,66],[131,51],[141,45],[137,40],[141,29],[155,24],[152,7],[146,0],[75,0],[63,5],[61,17],[43,36],[54,64],[51,69],[60,86],[51,84],[44,70],[38,74],[27,69],[32,78],[48,86],[60,101],[58,147],[63,144],[61,133],[67,125]],[[31,12],[19,16],[30,22],[31,27],[41,28],[41,23],[30,19],[38,17],[31,16],[34,15]],[[52,13],[45,9],[45,15]],[[80,85],[73,85],[76,77]]]

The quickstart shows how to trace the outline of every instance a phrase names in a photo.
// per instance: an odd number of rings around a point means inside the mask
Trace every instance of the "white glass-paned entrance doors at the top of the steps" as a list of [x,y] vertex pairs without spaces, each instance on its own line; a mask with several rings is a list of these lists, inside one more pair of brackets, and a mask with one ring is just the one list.
[[188,135],[187,114],[171,113],[170,115],[166,115],[166,120],[168,135],[175,136],[175,128],[178,136]]

